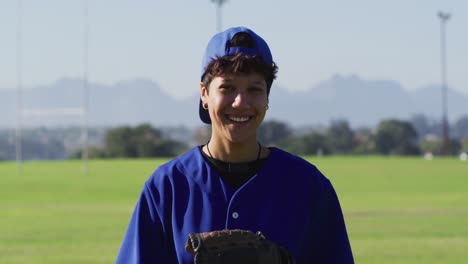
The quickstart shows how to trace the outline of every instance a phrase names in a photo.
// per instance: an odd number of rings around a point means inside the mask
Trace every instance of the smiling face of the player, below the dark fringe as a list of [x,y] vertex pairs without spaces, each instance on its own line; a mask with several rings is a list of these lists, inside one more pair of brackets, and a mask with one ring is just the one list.
[[[258,73],[224,74],[201,86],[208,105],[212,137],[230,143],[255,143],[268,105],[265,79]],[[214,139],[214,138],[213,138]]]

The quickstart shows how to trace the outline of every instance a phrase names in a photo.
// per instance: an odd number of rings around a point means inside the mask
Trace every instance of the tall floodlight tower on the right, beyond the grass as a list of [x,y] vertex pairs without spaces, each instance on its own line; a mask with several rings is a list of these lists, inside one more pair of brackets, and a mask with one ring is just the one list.
[[448,155],[449,150],[449,126],[447,118],[447,62],[445,54],[445,25],[447,20],[450,18],[449,13],[439,11],[438,16],[440,18],[440,57],[441,57],[441,76],[442,76],[442,135],[443,143],[441,153]]

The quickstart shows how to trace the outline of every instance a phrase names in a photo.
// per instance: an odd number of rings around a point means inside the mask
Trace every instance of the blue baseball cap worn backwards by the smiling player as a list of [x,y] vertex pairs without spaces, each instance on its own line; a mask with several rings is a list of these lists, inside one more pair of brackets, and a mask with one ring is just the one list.
[[[231,40],[237,33],[244,32],[250,35],[253,39],[254,46],[253,48],[247,47],[235,47],[230,46]],[[273,57],[271,56],[270,48],[266,41],[257,35],[252,30],[246,27],[232,27],[223,32],[217,33],[214,35],[210,42],[208,42],[208,46],[206,47],[205,54],[203,55],[202,59],[202,67],[201,67],[201,79],[205,75],[206,67],[210,64],[213,60],[216,60],[223,56],[230,56],[235,55],[237,53],[243,53],[246,55],[260,55],[265,63],[268,65],[273,65]],[[210,115],[208,110],[203,108],[203,103],[200,99],[199,104],[199,114],[200,119],[206,123],[211,124]]]

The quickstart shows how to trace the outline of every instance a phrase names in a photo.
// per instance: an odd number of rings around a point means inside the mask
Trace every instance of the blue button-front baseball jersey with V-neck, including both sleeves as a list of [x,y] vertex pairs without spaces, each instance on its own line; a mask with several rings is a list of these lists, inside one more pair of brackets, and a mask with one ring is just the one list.
[[309,162],[271,148],[263,167],[233,190],[199,147],[160,166],[148,179],[117,263],[193,263],[190,233],[262,231],[300,263],[354,263],[330,181]]

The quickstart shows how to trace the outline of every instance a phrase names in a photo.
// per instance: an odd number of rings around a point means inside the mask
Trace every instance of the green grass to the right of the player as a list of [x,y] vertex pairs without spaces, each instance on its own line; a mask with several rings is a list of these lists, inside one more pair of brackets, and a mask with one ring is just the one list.
[[468,163],[311,158],[335,185],[356,263],[468,263]]

